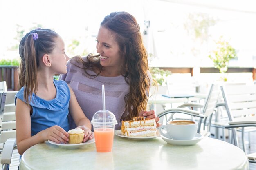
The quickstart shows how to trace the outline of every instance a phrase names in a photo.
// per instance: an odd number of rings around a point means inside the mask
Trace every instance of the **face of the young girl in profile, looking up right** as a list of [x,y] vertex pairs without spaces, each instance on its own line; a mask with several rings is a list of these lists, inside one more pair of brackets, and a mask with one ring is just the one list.
[[55,39],[55,47],[50,54],[51,69],[55,74],[67,73],[67,61],[70,59],[65,53],[65,44],[61,37]]

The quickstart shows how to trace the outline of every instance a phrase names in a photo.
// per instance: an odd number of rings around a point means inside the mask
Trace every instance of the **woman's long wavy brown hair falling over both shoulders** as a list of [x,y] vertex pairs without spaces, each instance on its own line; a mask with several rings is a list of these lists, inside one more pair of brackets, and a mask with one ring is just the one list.
[[[140,27],[136,19],[127,12],[113,12],[106,16],[101,26],[108,29],[119,44],[119,53],[124,56],[121,66],[121,75],[129,84],[130,91],[125,96],[125,113],[123,120],[130,120],[139,115],[141,110],[146,110],[150,79],[148,77],[147,52],[143,45]],[[88,55],[85,62],[77,57],[78,62],[83,63],[85,69],[97,69],[97,75],[101,73],[99,55]],[[87,73],[87,72],[86,72]],[[88,73],[87,73],[88,74]],[[97,76],[95,75],[95,76]]]

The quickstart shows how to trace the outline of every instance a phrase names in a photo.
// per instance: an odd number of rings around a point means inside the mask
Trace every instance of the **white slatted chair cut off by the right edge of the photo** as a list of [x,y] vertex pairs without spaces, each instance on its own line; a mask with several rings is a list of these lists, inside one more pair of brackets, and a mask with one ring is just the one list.
[[[238,146],[237,129],[242,130],[242,141],[247,127],[256,130],[256,85],[221,86],[229,122],[225,128],[231,128],[234,144]],[[243,150],[246,153],[245,143]],[[249,162],[256,163],[256,153],[247,155]]]

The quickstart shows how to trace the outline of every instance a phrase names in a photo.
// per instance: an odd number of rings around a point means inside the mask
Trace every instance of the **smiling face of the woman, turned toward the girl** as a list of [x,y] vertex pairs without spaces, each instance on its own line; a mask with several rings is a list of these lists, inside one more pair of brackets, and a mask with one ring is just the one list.
[[119,54],[119,46],[111,32],[103,26],[100,27],[97,35],[96,49],[101,55],[101,66],[120,72],[122,58]]

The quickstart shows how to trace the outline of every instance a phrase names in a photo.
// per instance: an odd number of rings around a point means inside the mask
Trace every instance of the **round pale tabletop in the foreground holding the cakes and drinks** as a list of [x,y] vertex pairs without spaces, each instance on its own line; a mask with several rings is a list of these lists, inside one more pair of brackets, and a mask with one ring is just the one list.
[[194,146],[167,144],[161,137],[131,140],[115,135],[113,151],[96,152],[95,144],[64,149],[37,144],[29,148],[20,170],[249,170],[245,153],[238,147],[204,137]]

